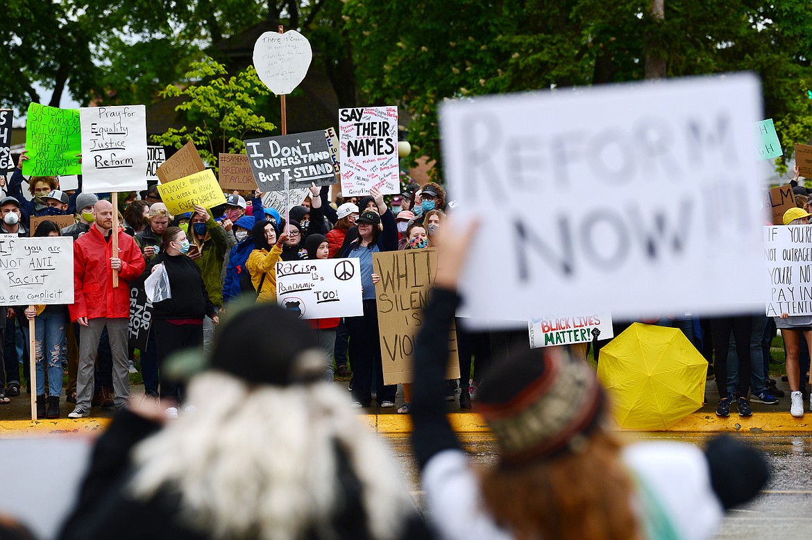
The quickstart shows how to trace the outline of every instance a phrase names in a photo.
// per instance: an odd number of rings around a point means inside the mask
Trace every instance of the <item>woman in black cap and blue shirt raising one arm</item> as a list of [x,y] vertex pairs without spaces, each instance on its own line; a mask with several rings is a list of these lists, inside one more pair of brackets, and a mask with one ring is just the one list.
[[[395,215],[383,202],[381,191],[373,187],[369,195],[378,212],[365,210],[358,217],[358,238],[343,251],[345,259],[361,259],[364,315],[345,319],[350,341],[354,343],[352,356],[352,406],[369,407],[372,404],[372,377],[376,375],[378,404],[382,408],[395,406],[397,384],[383,384],[381,338],[378,332],[378,307],[375,304],[375,285],[372,282],[372,254],[398,249],[398,229]],[[382,227],[381,227],[382,225]]]

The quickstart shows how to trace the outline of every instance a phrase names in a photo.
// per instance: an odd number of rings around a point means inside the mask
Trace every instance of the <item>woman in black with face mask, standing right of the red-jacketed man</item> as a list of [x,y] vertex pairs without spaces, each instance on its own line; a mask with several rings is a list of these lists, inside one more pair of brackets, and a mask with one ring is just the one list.
[[[192,349],[203,344],[203,318],[208,316],[214,324],[220,319],[206,293],[201,269],[186,254],[191,244],[179,227],[170,227],[163,234],[161,252],[149,262],[144,277],[166,268],[171,298],[153,304],[153,329],[158,350],[158,368],[161,371],[161,399],[170,404],[180,403],[183,388],[166,375],[166,358],[180,349]],[[177,415],[170,405],[166,412]],[[174,409],[174,410],[173,410]]]

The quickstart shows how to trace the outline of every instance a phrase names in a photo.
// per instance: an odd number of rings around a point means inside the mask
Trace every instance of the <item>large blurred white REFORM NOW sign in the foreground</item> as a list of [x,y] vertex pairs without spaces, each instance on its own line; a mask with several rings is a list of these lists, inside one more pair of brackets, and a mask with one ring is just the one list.
[[456,213],[499,216],[469,252],[468,311],[760,310],[760,103],[754,76],[726,75],[444,104]]

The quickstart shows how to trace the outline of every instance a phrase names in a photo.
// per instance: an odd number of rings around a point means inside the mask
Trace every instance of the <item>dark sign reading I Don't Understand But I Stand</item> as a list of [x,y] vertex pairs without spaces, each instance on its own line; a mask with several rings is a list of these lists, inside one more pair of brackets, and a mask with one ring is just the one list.
[[260,191],[335,184],[335,169],[324,131],[307,131],[245,141],[245,152]]

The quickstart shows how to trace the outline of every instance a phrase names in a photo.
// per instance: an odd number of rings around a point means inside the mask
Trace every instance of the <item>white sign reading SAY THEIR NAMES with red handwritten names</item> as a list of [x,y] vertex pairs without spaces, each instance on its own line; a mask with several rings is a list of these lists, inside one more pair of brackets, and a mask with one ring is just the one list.
[[339,162],[345,197],[400,193],[398,108],[339,109]]

